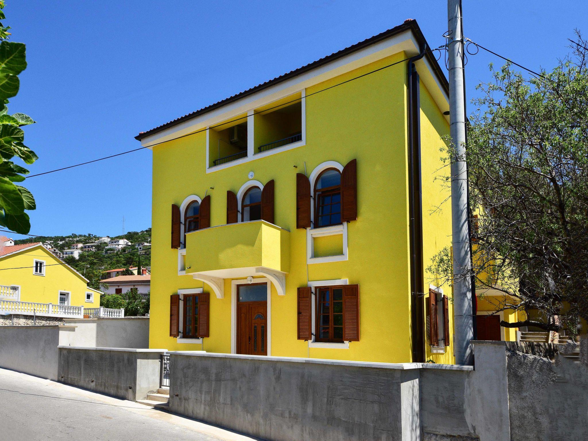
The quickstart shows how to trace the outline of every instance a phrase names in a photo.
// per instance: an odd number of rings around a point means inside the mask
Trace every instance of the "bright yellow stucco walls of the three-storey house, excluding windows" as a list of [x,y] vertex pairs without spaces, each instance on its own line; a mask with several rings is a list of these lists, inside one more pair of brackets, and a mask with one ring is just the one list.
[[[208,119],[182,128],[186,134],[172,128],[142,139],[153,151],[151,348],[235,353],[235,287],[250,276],[253,282],[269,283],[268,355],[413,361],[407,58],[417,52],[398,50],[405,41],[402,38],[408,36],[391,36],[389,48],[379,55],[369,49],[370,54],[363,58],[358,54],[354,62],[321,66],[322,71],[305,80],[298,90],[284,85],[283,91],[269,89],[259,99],[256,95],[243,98],[250,104],[230,103],[224,113],[221,106],[218,115],[205,115]],[[440,159],[442,136],[449,133],[449,123],[443,115],[447,103],[442,79],[436,78],[425,62],[417,62],[417,70],[426,268],[438,250],[450,245],[451,207],[446,201],[450,193],[436,179],[449,172]],[[293,125],[299,124],[302,139],[263,151],[265,147],[258,144],[293,131],[287,123],[274,126],[276,133],[271,138],[263,132],[272,122],[264,112],[291,102],[302,104],[299,121],[298,108],[292,111],[296,112]],[[283,115],[276,118],[289,118],[288,112]],[[233,121],[233,125],[247,122],[247,155],[215,165],[222,162],[215,163],[218,156],[225,154],[218,147],[222,142],[218,141],[217,126],[226,121]],[[305,174],[313,186],[320,172],[340,170],[353,159],[357,161],[357,219],[330,230],[296,228],[296,174]],[[273,223],[240,222],[239,213],[238,223],[226,225],[227,191],[240,199],[248,185],[258,182],[263,186],[271,180],[275,182]],[[180,249],[171,248],[170,206],[181,208],[183,222],[190,198],[202,201],[205,196],[210,196],[210,228],[187,233]],[[442,208],[436,209],[440,205]],[[452,342],[451,288],[437,286],[426,273],[420,277],[423,304],[432,285],[450,299]],[[359,286],[359,341],[329,345],[313,341],[316,336],[310,341],[297,338],[297,290],[306,286],[316,290],[322,281]],[[171,296],[200,289],[210,294],[209,336],[190,341],[182,335],[170,336]],[[314,299],[313,292],[313,303]],[[423,308],[425,359],[453,363],[451,343],[435,353],[426,343],[426,319]],[[316,323],[313,333],[315,329]]]

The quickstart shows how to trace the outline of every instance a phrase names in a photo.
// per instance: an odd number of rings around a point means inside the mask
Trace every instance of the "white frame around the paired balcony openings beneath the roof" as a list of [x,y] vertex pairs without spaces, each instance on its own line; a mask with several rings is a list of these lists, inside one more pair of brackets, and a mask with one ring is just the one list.
[[[256,106],[256,108],[266,106],[268,104],[271,104],[272,102],[280,101],[284,98],[287,98],[288,96],[296,95],[297,93],[300,93],[300,106],[302,107],[302,139],[300,141],[286,144],[281,147],[276,147],[275,149],[271,149],[265,152],[255,153],[255,145],[253,145],[253,139],[255,139],[253,136],[253,130],[255,126],[253,118],[255,117],[255,110],[249,109],[247,111],[247,156],[245,156],[245,158],[236,159],[235,161],[230,161],[224,164],[210,166],[209,129],[211,128],[211,126],[206,126],[206,173],[216,172],[225,168],[233,167],[235,165],[243,164],[250,161],[255,161],[255,159],[265,158],[266,156],[270,155],[276,155],[276,153],[286,152],[288,150],[306,145],[306,89],[301,89],[299,91],[288,93],[288,95],[280,96],[280,98],[270,102],[260,103],[260,105]],[[228,119],[235,118],[242,113],[243,112],[238,112],[235,115],[230,116]]]

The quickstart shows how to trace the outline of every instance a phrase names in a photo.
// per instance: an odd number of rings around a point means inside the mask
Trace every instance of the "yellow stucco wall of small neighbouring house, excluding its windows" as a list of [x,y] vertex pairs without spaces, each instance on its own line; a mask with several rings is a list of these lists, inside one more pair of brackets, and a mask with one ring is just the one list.
[[[41,273],[35,272],[35,261],[43,262]],[[87,283],[41,244],[0,256],[0,285],[18,288],[18,298],[6,297],[9,300],[59,305],[62,293],[66,305],[98,308],[100,291],[89,288]],[[86,301],[86,293],[91,293],[92,302]]]

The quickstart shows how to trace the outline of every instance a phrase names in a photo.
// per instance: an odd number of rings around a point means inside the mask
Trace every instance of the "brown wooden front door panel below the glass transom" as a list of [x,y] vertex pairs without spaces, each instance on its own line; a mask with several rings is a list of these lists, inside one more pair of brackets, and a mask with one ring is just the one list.
[[237,303],[237,353],[268,355],[268,302]]

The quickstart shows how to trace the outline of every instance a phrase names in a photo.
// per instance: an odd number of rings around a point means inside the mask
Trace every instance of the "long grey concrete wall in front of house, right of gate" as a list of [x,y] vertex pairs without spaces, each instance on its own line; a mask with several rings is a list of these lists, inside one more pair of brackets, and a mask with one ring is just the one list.
[[419,366],[171,352],[169,408],[263,439],[418,440]]

